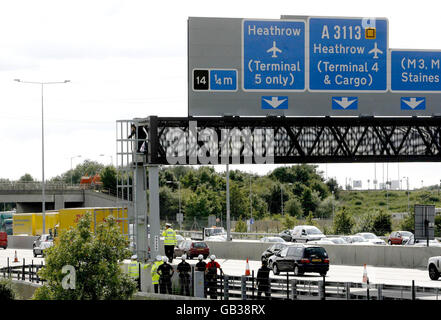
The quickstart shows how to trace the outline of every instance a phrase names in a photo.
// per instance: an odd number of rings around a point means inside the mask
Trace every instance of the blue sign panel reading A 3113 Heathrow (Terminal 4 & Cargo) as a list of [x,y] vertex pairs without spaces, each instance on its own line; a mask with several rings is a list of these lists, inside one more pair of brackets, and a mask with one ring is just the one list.
[[310,18],[311,91],[386,91],[387,19]]

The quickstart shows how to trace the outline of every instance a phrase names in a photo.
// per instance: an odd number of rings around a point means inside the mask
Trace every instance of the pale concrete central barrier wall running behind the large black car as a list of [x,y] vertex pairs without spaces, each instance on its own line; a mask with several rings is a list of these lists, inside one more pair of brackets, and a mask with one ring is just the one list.
[[[235,242],[207,241],[210,253],[222,259],[257,260],[273,243],[264,242]],[[376,267],[391,268],[427,268],[430,257],[440,256],[441,247],[412,247],[390,245],[338,245],[320,244],[329,255],[333,265],[362,266],[364,264]]]

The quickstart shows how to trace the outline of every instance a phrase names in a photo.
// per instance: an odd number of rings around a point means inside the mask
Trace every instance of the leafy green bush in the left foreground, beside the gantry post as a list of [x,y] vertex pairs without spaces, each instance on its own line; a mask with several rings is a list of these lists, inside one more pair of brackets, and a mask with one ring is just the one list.
[[[119,262],[131,256],[129,243],[120,233],[116,219],[109,216],[90,231],[86,213],[75,227],[62,232],[54,246],[46,249],[46,265],[39,276],[47,282],[34,293],[37,300],[124,300],[136,291],[136,283]],[[62,268],[75,268],[75,288],[64,289]]]

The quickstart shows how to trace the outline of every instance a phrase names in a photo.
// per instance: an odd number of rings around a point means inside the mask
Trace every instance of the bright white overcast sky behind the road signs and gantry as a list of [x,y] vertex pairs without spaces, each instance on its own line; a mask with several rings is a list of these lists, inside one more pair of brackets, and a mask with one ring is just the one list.
[[[41,86],[45,85],[45,178],[85,159],[115,164],[116,120],[187,116],[187,19],[281,15],[386,17],[390,48],[441,49],[439,1],[2,1],[0,178],[41,179]],[[77,157],[81,155],[81,157]],[[231,169],[265,174],[275,165]],[[384,168],[384,170],[383,170]],[[441,163],[322,164],[325,177],[370,187],[409,177],[439,184]],[[217,166],[223,171],[224,167]],[[406,184],[403,183],[403,188]]]

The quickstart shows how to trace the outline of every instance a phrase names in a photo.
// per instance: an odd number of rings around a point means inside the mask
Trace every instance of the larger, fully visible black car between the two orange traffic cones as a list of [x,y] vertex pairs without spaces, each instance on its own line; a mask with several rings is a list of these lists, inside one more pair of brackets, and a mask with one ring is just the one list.
[[325,276],[329,270],[328,253],[320,246],[288,246],[271,259],[274,275],[280,272],[294,272],[294,275],[299,276],[305,272],[317,272]]

